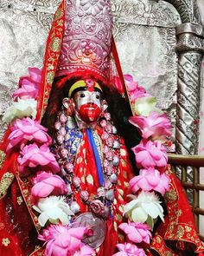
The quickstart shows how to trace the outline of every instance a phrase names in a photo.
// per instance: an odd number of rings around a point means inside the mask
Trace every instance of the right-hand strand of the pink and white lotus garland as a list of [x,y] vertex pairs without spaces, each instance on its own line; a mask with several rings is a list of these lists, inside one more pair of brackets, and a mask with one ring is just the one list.
[[155,97],[139,87],[131,75],[124,75],[124,79],[137,114],[129,121],[140,130],[142,140],[132,148],[140,172],[129,182],[131,201],[124,206],[124,217],[128,223],[118,226],[126,234],[127,243],[118,244],[119,252],[113,256],[143,256],[146,255],[143,248],[150,245],[150,230],[153,230],[157,218],[164,222],[158,194],[164,195],[169,191],[169,176],[165,174],[168,157],[164,143],[171,135],[171,125],[167,116],[156,108]]

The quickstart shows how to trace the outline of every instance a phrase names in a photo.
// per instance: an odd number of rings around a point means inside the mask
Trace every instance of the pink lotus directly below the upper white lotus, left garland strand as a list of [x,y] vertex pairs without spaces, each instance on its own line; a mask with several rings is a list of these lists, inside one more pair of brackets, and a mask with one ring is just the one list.
[[34,121],[29,117],[17,119],[11,129],[12,132],[8,138],[9,144],[6,148],[7,152],[10,152],[16,146],[20,146],[20,144],[23,147],[28,141],[48,144],[52,141],[46,133],[48,129],[41,126],[39,121]]

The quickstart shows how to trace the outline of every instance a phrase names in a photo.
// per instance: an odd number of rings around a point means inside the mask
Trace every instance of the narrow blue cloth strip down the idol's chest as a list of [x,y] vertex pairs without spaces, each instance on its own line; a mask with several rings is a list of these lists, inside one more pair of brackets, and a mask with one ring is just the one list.
[[96,146],[96,143],[95,143],[93,135],[92,135],[92,129],[86,128],[86,134],[88,136],[88,141],[90,142],[90,145],[92,147],[92,152],[93,152],[93,155],[95,158],[97,173],[98,173],[98,178],[99,178],[99,184],[100,184],[100,186],[104,186],[105,180],[104,180],[103,168],[101,166],[98,148]]

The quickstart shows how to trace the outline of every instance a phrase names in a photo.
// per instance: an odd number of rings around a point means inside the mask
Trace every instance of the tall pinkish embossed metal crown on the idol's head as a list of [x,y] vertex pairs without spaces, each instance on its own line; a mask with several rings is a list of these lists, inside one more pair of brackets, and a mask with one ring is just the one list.
[[112,14],[108,0],[67,0],[65,30],[56,75],[97,75],[110,72]]

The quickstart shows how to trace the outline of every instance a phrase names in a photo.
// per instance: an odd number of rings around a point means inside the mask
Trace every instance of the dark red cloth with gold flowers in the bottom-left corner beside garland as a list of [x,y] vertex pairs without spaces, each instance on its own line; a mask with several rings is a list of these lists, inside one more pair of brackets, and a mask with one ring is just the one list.
[[32,253],[38,242],[37,233],[16,181],[6,197],[0,200],[0,216],[0,255]]

